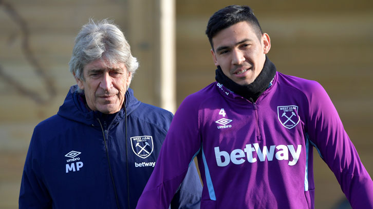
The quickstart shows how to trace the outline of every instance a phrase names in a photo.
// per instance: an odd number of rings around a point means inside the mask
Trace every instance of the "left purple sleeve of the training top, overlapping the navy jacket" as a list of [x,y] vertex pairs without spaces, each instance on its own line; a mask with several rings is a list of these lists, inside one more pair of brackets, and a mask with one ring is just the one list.
[[136,208],[167,208],[170,205],[189,164],[200,149],[198,127],[198,108],[193,99],[187,97],[175,113],[155,169]]

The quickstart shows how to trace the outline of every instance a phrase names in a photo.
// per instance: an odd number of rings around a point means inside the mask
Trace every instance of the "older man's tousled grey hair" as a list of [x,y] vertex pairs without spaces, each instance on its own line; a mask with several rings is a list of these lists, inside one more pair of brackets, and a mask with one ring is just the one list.
[[93,19],[89,19],[82,27],[72,50],[70,72],[76,78],[84,80],[84,66],[98,59],[104,59],[108,65],[124,64],[132,76],[139,67],[123,32],[113,20],[103,19],[95,23]]

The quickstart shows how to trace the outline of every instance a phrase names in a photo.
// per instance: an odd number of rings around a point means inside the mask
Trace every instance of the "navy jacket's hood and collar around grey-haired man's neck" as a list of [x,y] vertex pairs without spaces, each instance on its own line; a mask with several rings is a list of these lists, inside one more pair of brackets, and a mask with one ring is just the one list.
[[82,122],[89,126],[92,124],[96,126],[98,124],[97,118],[100,120],[113,120],[113,123],[118,122],[124,118],[125,112],[127,116],[135,111],[140,106],[140,101],[134,96],[134,91],[130,88],[125,93],[125,108],[122,108],[119,112],[113,114],[112,116],[105,115],[99,111],[91,111],[86,106],[86,101],[84,94],[79,93],[78,85],[70,87],[70,91],[67,93],[63,105],[58,111],[58,115],[61,117]]

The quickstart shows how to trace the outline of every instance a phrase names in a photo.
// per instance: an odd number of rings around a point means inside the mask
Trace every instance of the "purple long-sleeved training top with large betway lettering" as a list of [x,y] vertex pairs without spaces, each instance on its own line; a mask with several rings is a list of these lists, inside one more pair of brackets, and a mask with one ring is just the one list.
[[201,208],[314,208],[313,149],[353,208],[373,208],[373,182],[329,96],[276,72],[255,103],[213,82],[181,103],[137,208],[167,208],[194,156]]

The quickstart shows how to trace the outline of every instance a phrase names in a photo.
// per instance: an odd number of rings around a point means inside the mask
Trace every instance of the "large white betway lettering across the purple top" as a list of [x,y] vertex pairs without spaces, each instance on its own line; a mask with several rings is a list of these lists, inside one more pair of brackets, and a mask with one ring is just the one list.
[[[254,163],[257,159],[262,162],[265,161],[266,158],[268,161],[272,161],[273,157],[277,160],[289,160],[289,154],[291,155],[292,160],[289,161],[288,165],[295,165],[301,155],[302,145],[297,145],[296,150],[293,145],[271,145],[268,150],[267,146],[260,149],[258,143],[253,143],[246,144],[244,150],[236,149],[230,154],[226,151],[220,151],[219,147],[215,147],[214,150],[216,163],[220,167],[227,166],[230,162],[238,165],[246,161]],[[253,157],[253,153],[256,153],[257,158]]]

